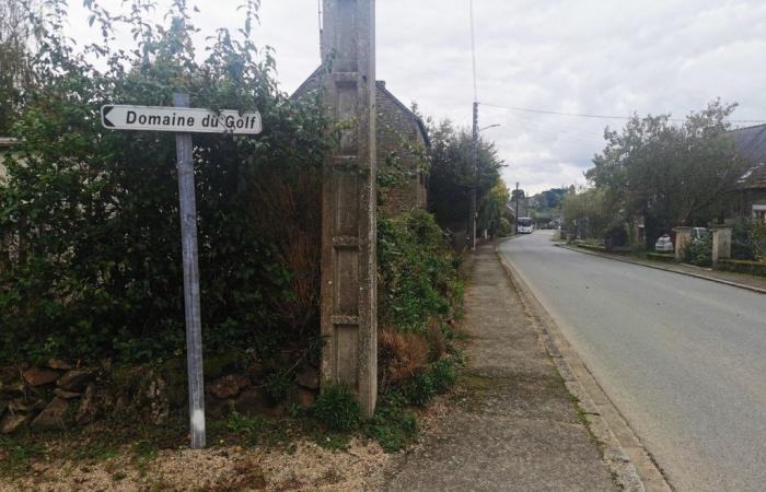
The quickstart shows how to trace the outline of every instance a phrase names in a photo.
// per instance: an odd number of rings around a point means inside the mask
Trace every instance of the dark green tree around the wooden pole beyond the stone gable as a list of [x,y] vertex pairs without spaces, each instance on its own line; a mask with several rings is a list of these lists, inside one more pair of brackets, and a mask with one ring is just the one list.
[[[471,188],[474,185],[472,136],[456,129],[449,120],[429,125],[431,140],[429,208],[442,226],[466,223]],[[476,171],[476,202],[484,201],[500,179],[501,161],[495,144],[479,139]]]

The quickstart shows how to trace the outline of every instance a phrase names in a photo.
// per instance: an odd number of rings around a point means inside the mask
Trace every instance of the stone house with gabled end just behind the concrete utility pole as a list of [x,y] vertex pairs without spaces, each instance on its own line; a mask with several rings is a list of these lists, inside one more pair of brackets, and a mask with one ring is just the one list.
[[[316,69],[291,97],[301,97],[316,91],[320,84],[321,68]],[[425,209],[428,204],[428,175],[422,169],[422,157],[413,150],[425,150],[430,144],[426,125],[386,89],[384,81],[376,83],[375,104],[379,173],[385,171],[392,154],[396,155],[399,167],[409,172],[403,186],[394,186],[382,194],[382,206],[379,210],[396,215],[413,209]]]

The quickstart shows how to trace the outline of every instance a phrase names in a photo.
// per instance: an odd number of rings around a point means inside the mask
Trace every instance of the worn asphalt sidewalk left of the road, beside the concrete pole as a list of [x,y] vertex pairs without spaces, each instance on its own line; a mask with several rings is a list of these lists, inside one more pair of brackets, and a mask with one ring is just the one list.
[[466,268],[473,340],[459,403],[385,490],[618,490],[494,246],[477,248]]

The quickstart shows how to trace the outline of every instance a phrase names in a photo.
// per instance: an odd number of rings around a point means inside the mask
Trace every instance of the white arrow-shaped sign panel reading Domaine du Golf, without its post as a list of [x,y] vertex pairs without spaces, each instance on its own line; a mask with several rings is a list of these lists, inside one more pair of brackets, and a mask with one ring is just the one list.
[[260,113],[192,107],[130,106],[107,104],[101,108],[101,124],[111,130],[150,130],[188,133],[257,134],[262,131]]

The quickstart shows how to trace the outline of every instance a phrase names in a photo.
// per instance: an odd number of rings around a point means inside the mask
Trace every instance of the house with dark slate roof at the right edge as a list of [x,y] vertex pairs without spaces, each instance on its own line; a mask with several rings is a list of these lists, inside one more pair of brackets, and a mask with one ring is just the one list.
[[730,133],[740,155],[751,165],[736,183],[734,213],[766,222],[766,125],[740,128]]

